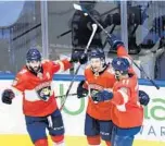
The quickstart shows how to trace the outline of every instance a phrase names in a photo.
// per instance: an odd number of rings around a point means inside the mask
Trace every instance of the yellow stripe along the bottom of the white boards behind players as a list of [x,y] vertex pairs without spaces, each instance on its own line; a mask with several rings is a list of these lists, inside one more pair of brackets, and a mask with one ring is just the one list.
[[[85,136],[66,136],[67,146],[88,146]],[[105,146],[102,142],[102,146]],[[0,146],[34,146],[28,135],[0,135]],[[49,146],[52,142],[49,137]],[[165,142],[135,141],[132,146],[165,146]]]

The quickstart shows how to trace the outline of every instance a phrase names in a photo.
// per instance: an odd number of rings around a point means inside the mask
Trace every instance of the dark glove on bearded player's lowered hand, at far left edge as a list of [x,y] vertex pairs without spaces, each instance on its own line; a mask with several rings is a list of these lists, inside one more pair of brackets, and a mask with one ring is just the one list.
[[15,94],[13,93],[12,89],[4,89],[4,92],[2,93],[2,102],[11,105],[12,104],[12,99],[15,97]]

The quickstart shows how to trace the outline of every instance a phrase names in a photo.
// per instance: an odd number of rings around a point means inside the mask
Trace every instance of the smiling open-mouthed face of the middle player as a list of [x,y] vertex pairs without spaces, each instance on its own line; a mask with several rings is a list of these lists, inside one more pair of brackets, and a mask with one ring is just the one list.
[[93,72],[100,72],[102,70],[102,61],[100,58],[90,59],[90,65]]

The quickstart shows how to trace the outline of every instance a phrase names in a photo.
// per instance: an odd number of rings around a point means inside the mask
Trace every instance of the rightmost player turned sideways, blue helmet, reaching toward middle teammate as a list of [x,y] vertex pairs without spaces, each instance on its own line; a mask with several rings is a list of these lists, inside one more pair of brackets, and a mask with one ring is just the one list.
[[140,132],[143,122],[141,105],[147,106],[150,98],[144,92],[139,93],[137,75],[126,58],[113,59],[112,66],[116,78],[113,90],[103,89],[94,96],[99,101],[113,104],[112,146],[132,146],[134,137]]

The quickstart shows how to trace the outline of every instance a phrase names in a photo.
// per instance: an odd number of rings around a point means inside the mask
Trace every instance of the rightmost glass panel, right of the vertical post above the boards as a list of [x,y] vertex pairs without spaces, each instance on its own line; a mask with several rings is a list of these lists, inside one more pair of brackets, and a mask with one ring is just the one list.
[[[128,2],[129,53],[151,78],[165,80],[165,1]],[[147,78],[143,73],[140,77]]]

